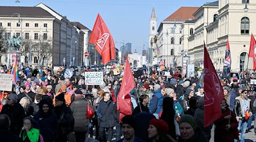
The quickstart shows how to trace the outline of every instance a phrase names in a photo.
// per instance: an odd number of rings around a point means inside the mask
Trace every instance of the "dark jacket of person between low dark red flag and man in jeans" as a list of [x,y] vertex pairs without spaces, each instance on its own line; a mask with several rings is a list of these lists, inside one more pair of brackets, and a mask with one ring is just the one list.
[[[225,119],[225,116],[231,114],[230,119]],[[229,108],[226,108],[225,111],[222,111],[222,115],[215,122],[215,131],[214,131],[214,141],[234,141],[238,137],[238,122],[233,111],[230,111]],[[231,128],[226,130],[226,125],[230,124]],[[237,132],[237,133],[236,133]]]

